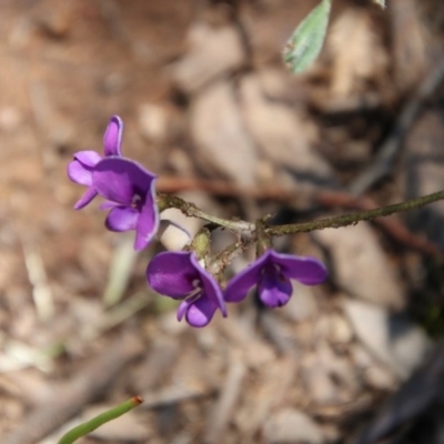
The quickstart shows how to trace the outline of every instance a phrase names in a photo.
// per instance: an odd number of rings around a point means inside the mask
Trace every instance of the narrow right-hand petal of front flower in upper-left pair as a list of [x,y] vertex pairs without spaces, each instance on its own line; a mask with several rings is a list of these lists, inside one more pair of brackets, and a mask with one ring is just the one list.
[[153,239],[159,229],[159,211],[155,204],[155,180],[145,194],[145,201],[140,210],[135,226],[134,250],[143,250]]

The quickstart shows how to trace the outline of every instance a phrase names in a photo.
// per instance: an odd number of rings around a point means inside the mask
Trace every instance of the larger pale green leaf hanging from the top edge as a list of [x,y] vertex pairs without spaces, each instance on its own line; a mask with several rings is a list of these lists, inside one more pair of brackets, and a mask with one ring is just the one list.
[[292,72],[305,71],[317,58],[329,26],[332,0],[322,0],[286,42],[283,59]]

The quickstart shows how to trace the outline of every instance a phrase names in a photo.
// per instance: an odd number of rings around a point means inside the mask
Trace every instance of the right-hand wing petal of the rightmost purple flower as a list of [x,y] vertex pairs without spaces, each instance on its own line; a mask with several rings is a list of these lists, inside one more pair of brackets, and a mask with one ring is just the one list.
[[315,258],[281,254],[269,250],[270,261],[281,268],[282,274],[294,279],[305,285],[316,285],[325,281],[327,270],[325,265]]

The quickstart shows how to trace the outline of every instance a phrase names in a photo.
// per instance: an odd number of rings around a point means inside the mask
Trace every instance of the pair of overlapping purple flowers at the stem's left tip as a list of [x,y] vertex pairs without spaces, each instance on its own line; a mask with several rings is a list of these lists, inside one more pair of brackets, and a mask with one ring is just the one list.
[[88,190],[75,203],[77,210],[88,205],[98,194],[110,210],[105,225],[111,231],[135,230],[135,250],[143,250],[159,228],[155,203],[155,174],[121,154],[122,120],[111,118],[103,138],[104,158],[95,151],[79,151],[68,165],[68,176]]

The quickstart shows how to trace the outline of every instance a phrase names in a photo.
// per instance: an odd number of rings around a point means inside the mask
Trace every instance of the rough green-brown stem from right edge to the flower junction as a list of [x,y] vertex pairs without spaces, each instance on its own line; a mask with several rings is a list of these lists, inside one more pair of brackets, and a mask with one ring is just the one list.
[[367,221],[370,219],[382,218],[385,215],[400,213],[402,211],[414,210],[424,206],[428,203],[436,202],[444,199],[444,190],[437,193],[424,195],[422,198],[412,199],[405,202],[395,203],[393,205],[382,206],[374,210],[362,211],[359,213],[344,214],[335,218],[320,219],[317,221],[305,223],[292,223],[287,225],[269,226],[266,233],[270,235],[284,235],[301,232],[309,232],[323,229],[337,229],[340,226],[354,225],[360,221]]

